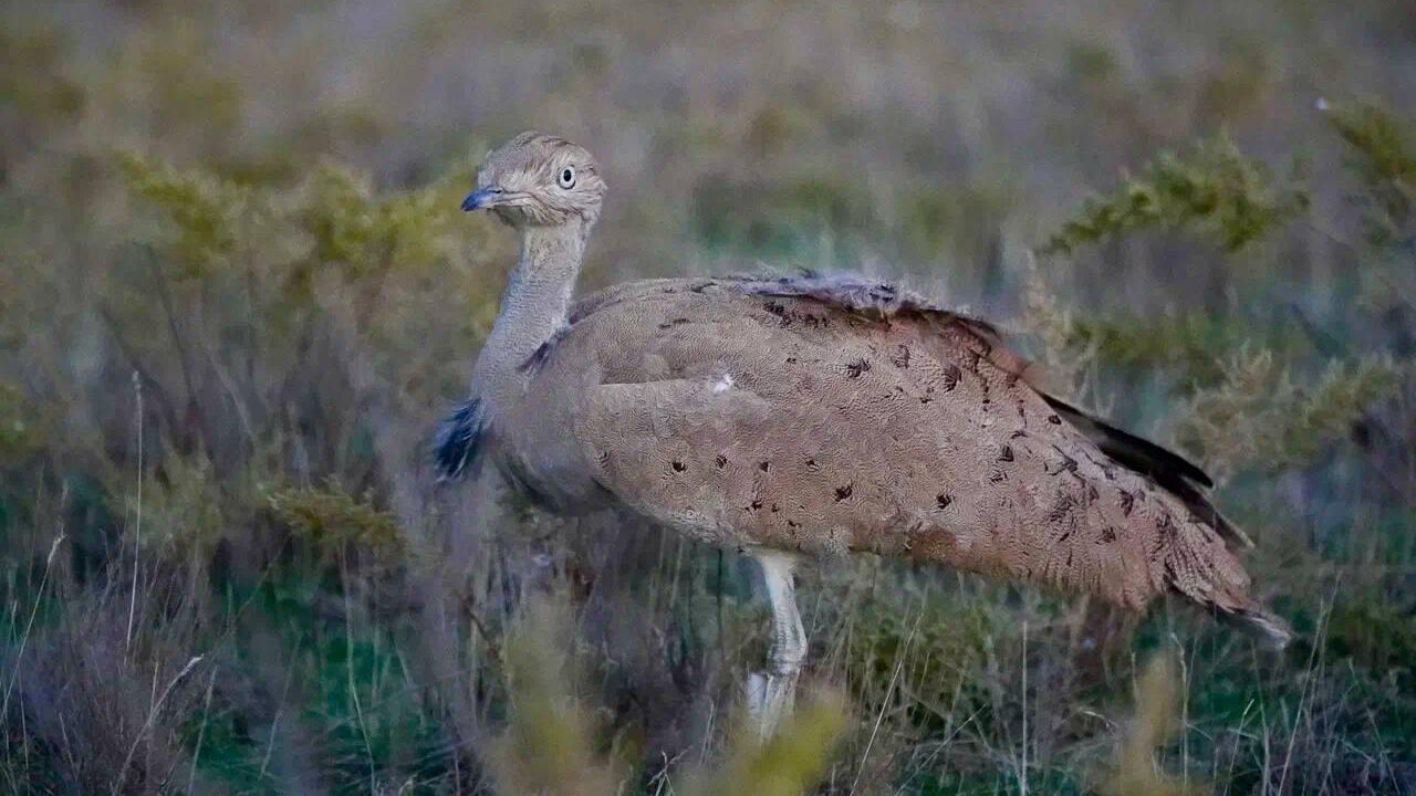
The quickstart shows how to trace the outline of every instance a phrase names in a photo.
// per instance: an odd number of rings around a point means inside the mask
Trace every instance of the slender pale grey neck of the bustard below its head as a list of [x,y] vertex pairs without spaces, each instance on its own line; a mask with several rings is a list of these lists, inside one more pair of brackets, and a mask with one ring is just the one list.
[[579,220],[523,229],[521,258],[472,371],[473,391],[484,401],[496,405],[520,395],[527,382],[523,365],[565,327],[585,254],[585,231]]

